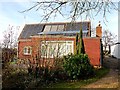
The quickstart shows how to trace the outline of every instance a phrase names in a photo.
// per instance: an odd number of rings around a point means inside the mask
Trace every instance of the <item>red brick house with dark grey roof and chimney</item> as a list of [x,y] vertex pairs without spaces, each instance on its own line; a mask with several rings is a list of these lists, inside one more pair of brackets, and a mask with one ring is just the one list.
[[76,52],[76,34],[83,30],[85,52],[93,66],[101,66],[101,26],[91,37],[91,22],[26,24],[18,39],[18,58],[52,65],[55,57]]

